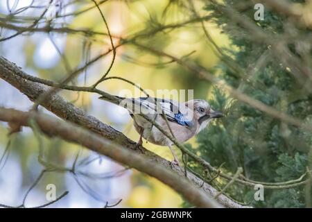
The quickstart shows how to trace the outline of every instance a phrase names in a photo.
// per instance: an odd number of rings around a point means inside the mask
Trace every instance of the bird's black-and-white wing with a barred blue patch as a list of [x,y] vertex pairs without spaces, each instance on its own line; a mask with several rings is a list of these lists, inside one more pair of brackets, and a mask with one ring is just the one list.
[[166,115],[168,121],[178,123],[182,126],[190,126],[191,121],[187,120],[187,108],[177,101],[168,99],[155,99],[153,97],[139,97],[137,99],[130,99],[132,103],[132,114],[135,112],[142,112],[144,114],[162,114]]

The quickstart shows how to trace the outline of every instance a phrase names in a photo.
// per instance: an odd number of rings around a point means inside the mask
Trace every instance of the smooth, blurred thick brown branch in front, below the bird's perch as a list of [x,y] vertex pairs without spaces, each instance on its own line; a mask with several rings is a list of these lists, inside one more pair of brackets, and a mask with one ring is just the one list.
[[114,144],[99,135],[90,133],[73,123],[60,121],[37,112],[21,112],[13,109],[0,108],[0,120],[29,126],[29,119],[34,118],[43,133],[58,136],[69,142],[81,144],[92,151],[111,157],[113,160],[134,167],[135,169],[158,178],[166,185],[180,192],[191,203],[198,207],[222,207],[216,200],[204,191],[181,178],[171,170],[153,161],[147,161],[144,155],[132,152],[120,145]]

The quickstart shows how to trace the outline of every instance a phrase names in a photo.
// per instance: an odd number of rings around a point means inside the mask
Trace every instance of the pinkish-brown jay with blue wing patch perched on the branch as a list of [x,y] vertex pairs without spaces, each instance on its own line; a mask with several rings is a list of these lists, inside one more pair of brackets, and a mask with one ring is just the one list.
[[172,99],[148,96],[136,99],[123,98],[119,105],[126,108],[133,119],[135,130],[140,135],[137,146],[142,144],[142,137],[152,144],[168,146],[173,155],[171,164],[175,165],[180,165],[180,162],[173,151],[173,142],[153,124],[153,121],[158,123],[166,134],[173,134],[177,142],[182,144],[200,133],[212,119],[224,116],[222,112],[213,110],[203,99],[180,103]]

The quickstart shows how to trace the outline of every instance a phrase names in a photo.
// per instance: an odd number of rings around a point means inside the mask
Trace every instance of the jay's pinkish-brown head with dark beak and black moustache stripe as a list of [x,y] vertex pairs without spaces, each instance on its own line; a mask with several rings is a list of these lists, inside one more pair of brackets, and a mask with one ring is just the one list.
[[187,101],[185,105],[193,110],[193,120],[198,123],[198,132],[204,129],[211,119],[224,116],[222,112],[213,110],[209,103],[203,99]]

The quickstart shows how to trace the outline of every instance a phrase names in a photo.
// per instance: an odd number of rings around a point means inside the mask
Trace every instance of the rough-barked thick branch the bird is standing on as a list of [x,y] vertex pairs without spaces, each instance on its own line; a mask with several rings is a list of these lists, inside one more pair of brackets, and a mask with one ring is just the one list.
[[[25,75],[27,74],[25,74],[24,71],[17,67],[17,65],[0,56],[0,78],[6,80],[6,82],[10,83],[10,85],[19,89],[19,91],[28,96],[31,101],[35,101],[41,94],[44,94],[47,92],[47,90],[50,89],[50,87],[46,87],[40,83],[34,83],[31,80],[26,80],[21,77]],[[167,160],[164,160],[164,158],[159,157],[155,153],[152,153],[145,148],[142,148],[142,153],[137,149],[136,143],[128,137],[125,137],[125,135],[123,135],[121,132],[115,130],[105,123],[102,123],[95,117],[88,115],[83,110],[76,108],[76,106],[73,104],[64,101],[64,99],[58,95],[52,96],[50,99],[45,100],[40,105],[42,105],[47,110],[50,110],[61,119],[71,121],[78,124],[79,126],[82,126],[83,128],[92,130],[92,132],[121,145],[123,148],[130,148],[132,152],[141,153],[141,155],[144,155],[146,162],[157,162],[159,165],[162,165],[167,169],[171,168],[171,163]],[[133,167],[131,165],[129,166]],[[177,173],[177,175],[180,177],[184,177],[184,169],[181,167],[174,167],[172,170],[175,171],[175,173]],[[198,186],[198,189],[205,191],[205,193],[209,194],[210,196],[215,196],[218,194],[218,190],[216,190],[214,187],[211,187],[211,185],[208,183],[203,182],[193,173],[188,172],[187,177],[193,183],[193,185]],[[218,203],[224,205],[225,207],[244,207],[243,205],[234,202],[232,199],[223,194],[218,196]]]

